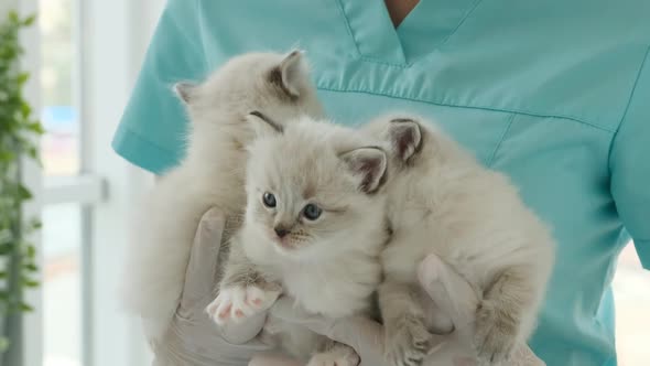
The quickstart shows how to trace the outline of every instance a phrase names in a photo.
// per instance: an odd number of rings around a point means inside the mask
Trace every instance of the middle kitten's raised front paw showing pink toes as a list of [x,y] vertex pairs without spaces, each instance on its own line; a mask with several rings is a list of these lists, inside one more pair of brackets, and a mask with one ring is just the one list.
[[266,311],[278,300],[280,291],[263,290],[259,287],[229,287],[206,308],[206,312],[219,325],[241,322]]

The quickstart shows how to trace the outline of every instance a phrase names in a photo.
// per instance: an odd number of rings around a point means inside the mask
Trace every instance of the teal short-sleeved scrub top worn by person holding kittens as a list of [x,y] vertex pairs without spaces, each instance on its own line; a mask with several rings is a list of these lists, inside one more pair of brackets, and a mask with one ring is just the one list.
[[171,86],[295,45],[335,120],[414,111],[509,174],[557,240],[531,347],[616,365],[610,282],[630,237],[650,268],[650,1],[421,0],[396,30],[381,0],[170,0],[115,150],[176,165],[187,118]]

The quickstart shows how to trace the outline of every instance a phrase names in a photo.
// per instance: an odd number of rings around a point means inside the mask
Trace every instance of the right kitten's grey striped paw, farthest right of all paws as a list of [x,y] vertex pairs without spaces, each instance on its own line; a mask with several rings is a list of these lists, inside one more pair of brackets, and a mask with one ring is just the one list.
[[476,312],[475,345],[481,365],[507,364],[517,343],[516,320],[485,301]]

